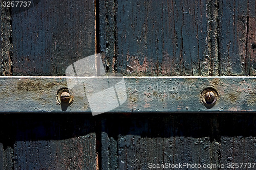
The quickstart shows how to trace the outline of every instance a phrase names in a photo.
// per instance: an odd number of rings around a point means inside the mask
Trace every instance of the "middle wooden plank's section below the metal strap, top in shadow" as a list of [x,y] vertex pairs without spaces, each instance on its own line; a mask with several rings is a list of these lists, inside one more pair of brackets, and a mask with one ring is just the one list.
[[149,163],[209,164],[210,117],[199,114],[102,116],[102,168],[148,169]]

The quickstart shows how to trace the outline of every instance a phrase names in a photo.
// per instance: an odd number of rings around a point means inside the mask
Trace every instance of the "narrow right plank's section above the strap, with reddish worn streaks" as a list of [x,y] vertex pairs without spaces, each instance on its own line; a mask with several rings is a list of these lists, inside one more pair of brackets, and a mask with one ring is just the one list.
[[255,1],[219,2],[220,76],[255,74]]

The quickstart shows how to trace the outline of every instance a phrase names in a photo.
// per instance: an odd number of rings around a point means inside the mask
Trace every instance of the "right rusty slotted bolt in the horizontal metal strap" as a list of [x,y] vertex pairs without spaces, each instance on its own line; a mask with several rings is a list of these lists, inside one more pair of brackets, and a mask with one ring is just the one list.
[[207,88],[202,92],[202,101],[204,104],[215,104],[218,99],[218,93],[214,88]]

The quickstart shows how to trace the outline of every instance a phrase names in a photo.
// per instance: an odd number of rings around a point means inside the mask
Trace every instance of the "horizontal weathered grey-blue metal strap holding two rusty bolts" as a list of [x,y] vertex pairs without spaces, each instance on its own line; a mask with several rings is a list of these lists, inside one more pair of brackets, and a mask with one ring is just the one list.
[[1,113],[256,112],[256,77],[0,77],[0,91]]

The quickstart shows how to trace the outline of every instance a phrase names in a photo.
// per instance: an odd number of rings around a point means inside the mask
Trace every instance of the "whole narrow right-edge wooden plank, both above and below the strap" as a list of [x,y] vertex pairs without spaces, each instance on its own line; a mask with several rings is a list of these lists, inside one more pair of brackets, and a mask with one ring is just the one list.
[[[255,76],[255,1],[219,1],[220,76]],[[255,115],[219,117],[217,151],[220,163],[255,160]],[[242,169],[246,169],[243,167]]]

